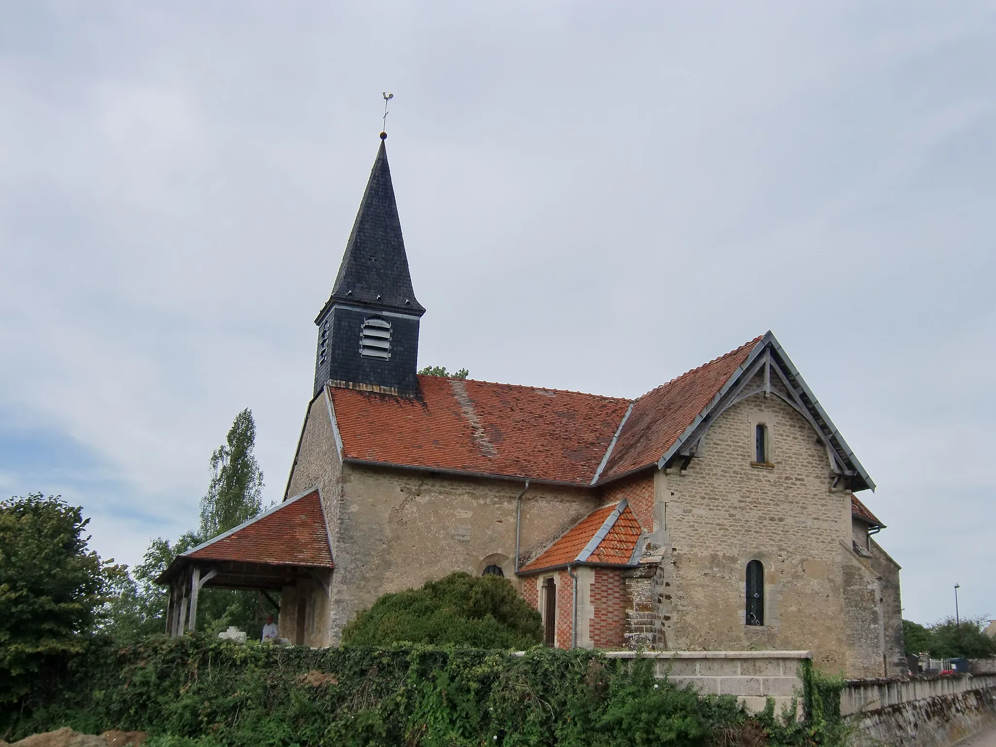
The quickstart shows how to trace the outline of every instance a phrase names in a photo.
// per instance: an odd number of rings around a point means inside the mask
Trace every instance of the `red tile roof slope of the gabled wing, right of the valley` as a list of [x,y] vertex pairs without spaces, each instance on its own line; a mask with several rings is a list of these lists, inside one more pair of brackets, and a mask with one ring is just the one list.
[[755,338],[715,361],[682,373],[633,402],[599,481],[618,477],[659,459],[760,341],[761,338]]

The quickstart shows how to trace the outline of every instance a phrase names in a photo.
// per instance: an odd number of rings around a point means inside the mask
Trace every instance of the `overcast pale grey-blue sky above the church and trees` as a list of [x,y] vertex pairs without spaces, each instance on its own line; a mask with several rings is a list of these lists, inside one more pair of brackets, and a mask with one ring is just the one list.
[[0,0],[0,494],[134,563],[287,481],[388,155],[419,364],[636,396],[773,330],[904,616],[996,617],[996,2]]

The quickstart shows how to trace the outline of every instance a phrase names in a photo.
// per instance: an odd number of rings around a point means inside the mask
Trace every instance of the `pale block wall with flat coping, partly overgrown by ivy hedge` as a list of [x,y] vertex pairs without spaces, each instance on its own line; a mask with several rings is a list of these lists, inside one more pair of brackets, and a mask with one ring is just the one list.
[[701,694],[736,695],[752,712],[764,710],[767,698],[775,712],[792,707],[801,712],[803,681],[799,665],[813,658],[810,651],[610,651],[611,658],[656,659],[656,675]]

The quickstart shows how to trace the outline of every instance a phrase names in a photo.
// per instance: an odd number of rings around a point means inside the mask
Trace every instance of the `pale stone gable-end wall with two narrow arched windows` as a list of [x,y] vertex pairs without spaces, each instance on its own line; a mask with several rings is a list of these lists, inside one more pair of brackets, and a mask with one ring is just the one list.
[[[752,466],[758,422],[770,468]],[[673,577],[668,648],[811,649],[824,668],[848,665],[841,551],[852,541],[851,499],[829,490],[829,474],[809,423],[760,394],[716,419],[684,475],[658,473]],[[744,624],[753,559],[764,564],[764,625]]]

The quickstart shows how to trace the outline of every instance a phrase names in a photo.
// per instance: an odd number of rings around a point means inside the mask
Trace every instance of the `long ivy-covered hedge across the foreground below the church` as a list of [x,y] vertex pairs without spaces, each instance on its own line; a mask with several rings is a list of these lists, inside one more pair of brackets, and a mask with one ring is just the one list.
[[783,724],[654,679],[650,660],[588,650],[315,649],[188,634],[124,648],[95,640],[83,658],[0,709],[0,738],[71,726],[147,730],[150,747],[844,744],[834,683],[806,679],[820,720]]

